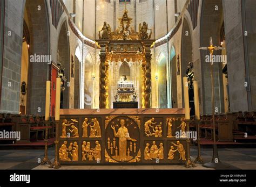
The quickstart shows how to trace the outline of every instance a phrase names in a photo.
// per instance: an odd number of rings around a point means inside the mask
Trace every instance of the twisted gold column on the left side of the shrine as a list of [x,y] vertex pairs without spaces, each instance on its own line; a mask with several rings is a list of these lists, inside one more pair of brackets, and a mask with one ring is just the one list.
[[108,69],[109,66],[106,62],[107,60],[107,45],[109,41],[98,41],[100,46],[100,64],[99,64],[99,108],[108,109],[109,108],[109,93],[107,83],[108,80]]

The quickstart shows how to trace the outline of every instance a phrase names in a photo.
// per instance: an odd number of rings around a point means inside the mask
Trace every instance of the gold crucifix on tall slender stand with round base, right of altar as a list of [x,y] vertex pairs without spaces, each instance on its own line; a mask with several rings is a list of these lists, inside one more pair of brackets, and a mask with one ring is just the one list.
[[204,167],[207,168],[227,168],[229,167],[227,164],[221,163],[218,156],[216,138],[215,138],[215,109],[214,109],[214,77],[213,77],[213,52],[225,49],[224,47],[213,46],[212,37],[210,37],[210,46],[209,47],[199,47],[201,50],[208,50],[210,52],[210,63],[211,63],[211,82],[212,82],[212,123],[213,123],[213,155],[212,161],[203,164]]

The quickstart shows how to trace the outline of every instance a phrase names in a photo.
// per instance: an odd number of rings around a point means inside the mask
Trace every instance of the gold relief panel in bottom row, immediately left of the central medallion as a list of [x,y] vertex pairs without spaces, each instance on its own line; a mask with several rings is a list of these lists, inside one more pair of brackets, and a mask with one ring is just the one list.
[[82,161],[97,162],[102,160],[101,141],[82,142]]

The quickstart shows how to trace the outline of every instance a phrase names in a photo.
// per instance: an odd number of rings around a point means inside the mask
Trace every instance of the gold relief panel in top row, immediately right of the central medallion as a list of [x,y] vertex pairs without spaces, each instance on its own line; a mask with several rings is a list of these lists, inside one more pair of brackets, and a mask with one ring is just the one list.
[[163,136],[163,118],[144,118],[144,135],[161,138]]

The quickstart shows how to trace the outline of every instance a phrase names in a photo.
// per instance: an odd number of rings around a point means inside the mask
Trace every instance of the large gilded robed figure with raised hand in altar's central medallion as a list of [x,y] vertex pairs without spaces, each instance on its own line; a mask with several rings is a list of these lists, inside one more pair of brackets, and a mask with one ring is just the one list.
[[118,131],[116,132],[116,128],[111,125],[111,128],[113,130],[114,133],[114,137],[118,138],[118,150],[119,150],[119,156],[117,157],[117,159],[119,161],[126,161],[127,159],[130,159],[130,157],[127,157],[126,155],[126,150],[127,150],[127,140],[131,140],[131,141],[137,141],[136,139],[130,138],[129,136],[129,131],[128,129],[125,127],[125,120],[121,119],[120,120],[120,127],[118,128]]

